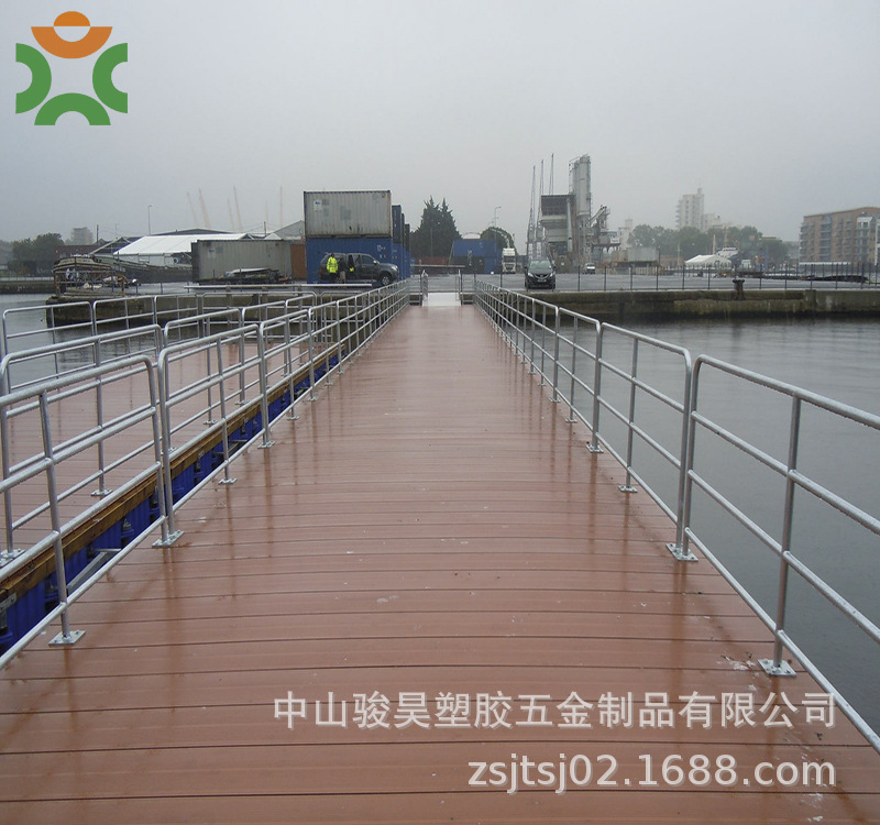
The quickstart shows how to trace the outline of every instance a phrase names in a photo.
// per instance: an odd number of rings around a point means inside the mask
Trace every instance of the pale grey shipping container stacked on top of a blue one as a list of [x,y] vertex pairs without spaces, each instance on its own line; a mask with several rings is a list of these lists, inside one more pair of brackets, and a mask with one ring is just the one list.
[[393,234],[388,190],[307,191],[302,193],[302,200],[306,238],[391,238]]

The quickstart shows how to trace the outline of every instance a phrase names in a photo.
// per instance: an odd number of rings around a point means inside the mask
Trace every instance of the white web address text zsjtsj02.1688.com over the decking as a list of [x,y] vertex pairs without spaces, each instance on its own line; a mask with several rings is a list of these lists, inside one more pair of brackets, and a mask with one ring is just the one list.
[[468,762],[473,770],[468,784],[472,788],[505,790],[517,793],[525,790],[568,790],[584,788],[644,788],[661,789],[691,785],[758,788],[800,785],[803,788],[831,788],[836,783],[836,771],[831,762],[758,762],[754,769],[737,766],[736,757],[719,754],[708,757],[694,754],[684,757],[670,754],[658,760],[650,754],[640,754],[638,770],[625,776],[617,759],[601,754],[593,759],[576,754],[559,755],[557,761],[535,761],[526,755],[510,754],[507,762]]

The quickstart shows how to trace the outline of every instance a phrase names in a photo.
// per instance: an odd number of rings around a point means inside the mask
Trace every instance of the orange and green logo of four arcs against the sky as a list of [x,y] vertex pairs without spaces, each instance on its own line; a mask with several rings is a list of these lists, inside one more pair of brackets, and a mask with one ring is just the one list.
[[[77,41],[65,40],[57,29],[86,29],[86,34]],[[99,52],[113,31],[109,25],[91,25],[89,19],[78,11],[66,11],[55,19],[53,25],[31,28],[34,38],[45,52],[55,57],[77,61]],[[65,112],[79,112],[92,127],[109,127],[112,109],[129,111],[129,96],[113,86],[113,69],[129,59],[129,44],[120,43],[102,52],[95,62],[91,84],[96,97],[67,92],[50,97],[52,92],[52,69],[42,52],[24,43],[15,44],[15,61],[31,69],[31,85],[15,95],[15,113],[37,109],[34,124],[53,127]]]

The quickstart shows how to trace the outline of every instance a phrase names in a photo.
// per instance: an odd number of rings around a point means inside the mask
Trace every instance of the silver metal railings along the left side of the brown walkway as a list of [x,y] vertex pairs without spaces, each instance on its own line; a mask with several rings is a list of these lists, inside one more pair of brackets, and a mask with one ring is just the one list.
[[[296,301],[296,304],[300,304],[300,301]],[[156,355],[155,363],[150,353],[114,359],[52,380],[29,383],[11,393],[0,395],[0,451],[4,458],[0,496],[7,504],[4,508],[6,547],[0,551],[0,585],[25,565],[31,564],[36,558],[54,551],[59,596],[58,606],[0,656],[0,668],[4,667],[30,640],[59,617],[63,631],[56,644],[76,641],[79,631],[70,630],[67,616],[69,606],[112,564],[129,553],[151,532],[154,532],[157,527],[161,528],[161,538],[154,543],[157,546],[173,544],[180,535],[174,526],[175,508],[179,508],[189,496],[194,495],[196,488],[207,484],[220,473],[223,474],[221,483],[234,481],[229,477],[229,462],[234,457],[229,444],[229,426],[233,417],[241,415],[238,402],[242,398],[240,391],[229,391],[227,385],[230,382],[234,383],[237,375],[243,375],[251,371],[258,373],[255,381],[244,382],[242,380],[241,386],[249,394],[244,400],[249,404],[258,404],[261,411],[260,431],[250,441],[257,439],[262,433],[264,446],[270,446],[268,396],[287,383],[290,420],[295,420],[294,402],[296,396],[293,382],[297,374],[301,374],[306,366],[306,360],[308,359],[310,395],[315,398],[316,383],[328,381],[331,373],[341,372],[342,364],[369,344],[381,329],[408,305],[408,288],[406,285],[395,284],[322,306],[299,307],[284,316],[267,319],[261,324],[245,324],[207,338],[166,345]],[[305,330],[302,329],[304,322],[307,323]],[[287,331],[280,332],[280,329],[285,327]],[[297,329],[298,332],[290,334],[292,329]],[[154,337],[160,336],[157,327],[148,328],[147,332],[152,332]],[[316,340],[318,337],[327,340],[318,342]],[[65,348],[97,346],[117,340],[125,340],[125,333],[99,336],[95,340],[88,339],[85,343],[79,341],[78,344],[70,342],[70,344],[65,344]],[[238,349],[238,352],[241,353],[245,341],[251,345],[251,354],[226,363],[226,353],[230,351],[230,345],[231,351],[234,352]],[[45,348],[38,348],[41,353],[43,349]],[[175,360],[200,358],[206,349],[211,350],[215,356],[209,374],[193,384],[174,387],[172,373]],[[255,354],[253,353],[254,349]],[[14,354],[14,359],[20,360],[28,360],[32,356],[33,352],[29,351]],[[327,360],[329,366],[331,356],[336,358],[336,363],[331,369],[326,370],[316,382],[316,361]],[[273,366],[274,360],[278,358],[285,360],[285,365],[280,369]],[[13,356],[10,355],[8,363],[12,360]],[[61,405],[69,399],[76,400],[85,393],[100,392],[101,388],[106,388],[121,377],[136,375],[140,372],[145,372],[148,385],[145,394],[136,393],[138,397],[143,395],[148,397],[148,402],[143,406],[125,409],[109,420],[99,416],[97,426],[87,424],[81,431],[77,430],[73,436],[67,433],[62,438],[53,432],[48,416],[52,405]],[[277,377],[277,381],[273,376]],[[206,409],[220,408],[221,420],[211,422],[211,425],[221,435],[222,462],[208,473],[193,491],[175,502],[172,495],[172,462],[184,449],[195,443],[194,439],[187,440],[180,437],[187,435],[185,432],[186,424],[195,422],[199,417],[198,414],[194,416],[191,408],[186,409],[186,407],[188,404],[191,407],[191,399],[208,387],[219,388],[219,399],[210,400],[207,407],[202,406],[199,414],[205,413]],[[252,392],[254,387],[257,389]],[[228,400],[235,400],[235,404],[228,406]],[[184,415],[182,416],[183,420],[173,422],[170,410],[175,407],[184,409]],[[34,418],[34,410],[38,411],[37,418]],[[38,419],[43,432],[43,449],[35,455],[12,465],[9,460],[9,457],[13,454],[12,428],[9,424],[10,419],[16,417],[21,417],[23,421],[26,420],[30,424]],[[147,420],[152,421],[152,437],[150,438],[146,438],[142,429],[138,429],[139,427],[143,428]],[[205,432],[199,428],[201,437]],[[99,460],[96,471],[86,468],[84,477],[68,479],[65,482],[65,490],[61,490],[55,468],[65,460],[89,454],[96,448],[101,450],[111,438],[125,439],[127,442],[133,441],[135,446],[125,448],[128,452],[112,459],[106,468],[102,460]],[[139,458],[150,449],[154,453],[152,462]],[[127,468],[131,468],[131,471],[128,471]],[[107,491],[106,497],[79,509],[79,499],[74,496],[91,481],[100,477],[103,472],[111,471],[119,471],[114,476],[118,482],[116,490]],[[32,506],[28,513],[16,517],[11,495],[22,484],[33,485],[41,476],[46,477],[45,502]],[[109,512],[108,508],[118,506],[128,495],[139,490],[148,477],[154,479],[158,515],[124,547],[107,551],[112,556],[108,564],[94,571],[89,570],[87,575],[77,576],[77,580],[81,578],[82,581],[77,582],[76,590],[68,592],[64,571],[64,537],[100,519]],[[61,505],[66,501],[77,506],[76,514],[67,517],[67,520],[61,510]],[[69,509],[69,505],[65,506]],[[46,519],[48,520],[47,525],[44,524]],[[28,539],[29,546],[18,548],[18,536],[22,535],[21,531],[25,527],[31,531],[31,537]]]

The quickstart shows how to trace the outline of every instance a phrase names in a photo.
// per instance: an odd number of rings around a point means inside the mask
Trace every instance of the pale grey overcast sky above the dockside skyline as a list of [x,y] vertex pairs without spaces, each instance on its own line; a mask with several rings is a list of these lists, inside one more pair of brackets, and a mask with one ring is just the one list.
[[[15,44],[69,9],[129,44],[110,127],[14,113]],[[878,0],[4,0],[0,38],[4,240],[204,224],[199,190],[232,230],[233,187],[244,228],[272,229],[282,190],[290,223],[304,190],[391,189],[414,229],[433,196],[522,249],[551,154],[557,194],[592,157],[613,228],[674,228],[697,186],[785,240],[804,215],[880,206]],[[51,58],[52,94],[91,92],[89,59]]]

